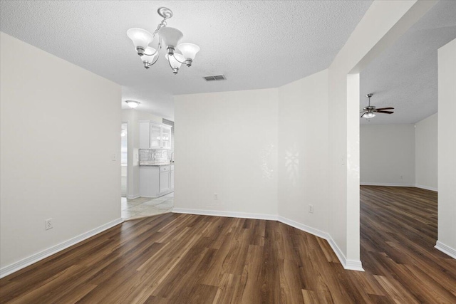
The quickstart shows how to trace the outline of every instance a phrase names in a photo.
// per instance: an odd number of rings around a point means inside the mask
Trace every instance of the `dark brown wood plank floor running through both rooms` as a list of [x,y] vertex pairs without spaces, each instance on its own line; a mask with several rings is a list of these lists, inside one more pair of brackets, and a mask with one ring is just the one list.
[[361,261],[276,221],[162,214],[126,221],[0,280],[0,303],[456,303],[433,248],[437,194],[361,187]]

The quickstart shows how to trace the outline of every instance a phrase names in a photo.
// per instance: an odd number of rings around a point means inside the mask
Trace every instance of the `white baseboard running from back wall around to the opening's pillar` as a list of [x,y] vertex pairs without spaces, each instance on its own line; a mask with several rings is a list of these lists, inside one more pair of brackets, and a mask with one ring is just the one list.
[[344,269],[351,271],[364,271],[361,261],[347,260],[346,256],[343,254],[340,248],[338,248],[336,242],[331,238],[331,236],[321,230],[314,229],[310,226],[306,226],[297,221],[292,221],[291,219],[286,219],[283,216],[276,216],[273,214],[250,214],[244,212],[231,212],[231,211],[217,211],[217,210],[201,210],[201,209],[182,209],[174,208],[172,209],[174,213],[180,214],[197,214],[197,215],[209,215],[209,216],[227,216],[227,217],[239,217],[242,219],[266,219],[269,221],[280,221],[286,225],[292,226],[296,229],[305,231],[314,236],[318,236],[321,239],[326,239],[329,245],[336,253],[337,258],[341,262]]

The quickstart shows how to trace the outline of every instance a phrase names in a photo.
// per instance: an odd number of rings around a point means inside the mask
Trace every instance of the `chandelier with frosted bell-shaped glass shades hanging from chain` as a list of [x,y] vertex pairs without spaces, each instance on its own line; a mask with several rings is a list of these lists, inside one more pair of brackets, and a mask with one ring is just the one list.
[[[193,43],[177,44],[184,35],[177,28],[166,26],[166,20],[172,17],[172,11],[166,7],[160,7],[157,13],[162,16],[163,20],[158,24],[154,33],[149,33],[142,28],[130,28],[127,31],[127,36],[133,41],[136,52],[141,57],[146,69],[157,62],[162,45],[164,45],[166,47],[165,57],[170,64],[172,73],[177,74],[182,63],[187,66],[192,65],[196,54],[199,52],[199,46]],[[156,34],[159,36],[157,48],[152,48],[149,45]],[[175,53],[177,52],[176,48],[180,53]]]

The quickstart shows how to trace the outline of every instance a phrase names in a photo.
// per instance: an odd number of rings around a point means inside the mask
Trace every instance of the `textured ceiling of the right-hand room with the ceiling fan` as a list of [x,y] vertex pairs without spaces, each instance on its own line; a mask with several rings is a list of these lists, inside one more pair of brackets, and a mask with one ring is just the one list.
[[361,72],[360,108],[392,106],[361,124],[415,123],[437,112],[437,49],[456,38],[456,1],[440,1]]

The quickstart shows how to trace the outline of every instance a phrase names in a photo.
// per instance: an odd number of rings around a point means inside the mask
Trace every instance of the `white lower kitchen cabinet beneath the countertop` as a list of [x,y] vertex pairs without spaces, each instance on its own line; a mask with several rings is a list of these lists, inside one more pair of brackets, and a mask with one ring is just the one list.
[[174,191],[174,165],[140,166],[140,196],[158,197]]

